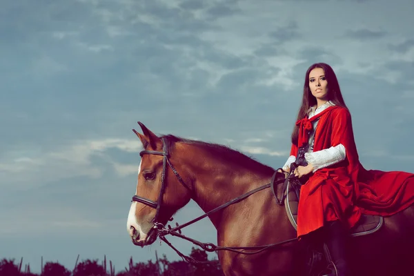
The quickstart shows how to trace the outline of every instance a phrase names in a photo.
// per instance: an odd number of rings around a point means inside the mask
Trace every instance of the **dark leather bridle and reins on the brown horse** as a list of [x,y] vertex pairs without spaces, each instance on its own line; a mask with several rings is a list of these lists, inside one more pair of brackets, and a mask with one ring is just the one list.
[[[269,184],[265,184],[263,186],[259,186],[253,190],[250,190],[247,193],[244,193],[243,195],[240,195],[239,197],[236,197],[235,199],[232,199],[230,201],[227,201],[225,204],[222,204],[221,206],[218,206],[217,208],[214,208],[213,210],[210,210],[209,212],[205,213],[204,215],[201,215],[191,221],[188,221],[186,224],[182,224],[179,226],[179,224],[176,223],[176,227],[175,228],[171,228],[170,225],[168,225],[168,229],[165,228],[164,224],[161,224],[159,221],[157,221],[158,217],[159,217],[159,209],[161,208],[161,204],[162,204],[162,197],[164,195],[164,192],[166,190],[166,168],[167,168],[167,164],[170,167],[170,169],[172,170],[172,172],[174,172],[175,177],[177,177],[178,181],[184,186],[186,187],[191,193],[192,190],[190,189],[190,187],[185,184],[185,182],[183,181],[183,179],[181,178],[181,176],[179,175],[179,173],[177,172],[177,170],[175,170],[174,166],[172,166],[170,160],[168,159],[169,157],[169,152],[168,149],[166,147],[166,141],[164,138],[161,138],[162,142],[163,142],[163,150],[162,151],[157,151],[157,150],[142,150],[141,152],[139,152],[139,155],[142,157],[143,155],[161,155],[163,157],[162,160],[162,172],[161,172],[161,189],[159,190],[159,195],[158,195],[158,199],[157,201],[152,201],[150,199],[146,199],[144,197],[139,197],[138,195],[134,195],[132,197],[132,201],[136,201],[139,202],[141,204],[145,204],[146,206],[150,206],[151,208],[155,208],[157,211],[155,213],[155,217],[154,219],[152,219],[152,222],[155,224],[155,226],[153,226],[153,230],[157,231],[157,236],[164,242],[166,242],[166,244],[168,244],[168,246],[170,246],[173,250],[175,250],[175,252],[177,252],[177,254],[184,259],[184,261],[186,262],[190,262],[192,264],[206,264],[206,263],[212,263],[214,261],[207,261],[207,262],[199,262],[196,259],[193,259],[192,257],[188,257],[184,254],[182,254],[181,252],[179,252],[179,250],[177,250],[177,248],[175,248],[174,246],[172,246],[172,244],[170,244],[170,242],[168,242],[168,240],[166,239],[166,235],[172,235],[175,237],[181,237],[182,239],[186,239],[189,242],[193,242],[193,244],[200,246],[201,248],[203,248],[204,250],[208,251],[208,252],[213,252],[213,251],[218,251],[218,250],[230,250],[236,253],[242,253],[242,254],[247,254],[247,255],[251,255],[251,254],[256,254],[256,253],[260,253],[263,250],[266,250],[268,248],[272,248],[275,246],[281,246],[282,244],[287,244],[288,242],[293,242],[296,241],[297,238],[293,238],[293,239],[287,239],[285,241],[282,242],[277,242],[275,244],[266,244],[264,246],[239,246],[239,247],[228,247],[228,246],[215,246],[214,244],[211,243],[203,243],[203,242],[199,242],[195,239],[191,239],[189,237],[186,237],[184,235],[181,234],[181,229],[189,226],[190,224],[193,224],[197,221],[199,221],[200,219],[204,219],[204,217],[208,217],[210,214],[217,212],[218,210],[221,210],[223,208],[226,208],[227,206],[230,206],[231,204],[235,204],[239,201],[242,201],[243,199],[246,199],[247,197],[249,197],[250,195],[253,195],[254,193],[257,193],[259,190],[264,190],[265,188],[272,188],[273,193],[275,194],[275,185],[278,184],[282,184],[284,183],[286,185],[288,178],[286,179],[278,179],[277,181],[275,181],[275,178],[277,177],[278,173],[282,173],[283,172],[279,172],[279,169],[275,170],[273,177],[270,181]],[[277,204],[282,205],[283,204],[283,199],[284,199],[284,193],[282,192],[282,199],[278,199],[276,197],[276,201]],[[170,219],[168,219],[169,221],[172,221],[172,217]],[[256,250],[253,252],[245,252],[244,250]],[[218,262],[218,261],[215,261]]]

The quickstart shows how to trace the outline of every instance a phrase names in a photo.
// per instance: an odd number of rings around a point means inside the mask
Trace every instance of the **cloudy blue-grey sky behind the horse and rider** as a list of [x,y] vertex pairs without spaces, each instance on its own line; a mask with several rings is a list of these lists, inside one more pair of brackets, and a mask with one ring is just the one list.
[[[366,168],[413,171],[411,0],[0,0],[0,257],[117,270],[137,121],[280,167],[311,63],[331,64]],[[408,141],[408,143],[406,142]],[[175,217],[201,211],[191,203]],[[216,242],[208,220],[184,230]],[[189,253],[191,244],[172,239]]]

